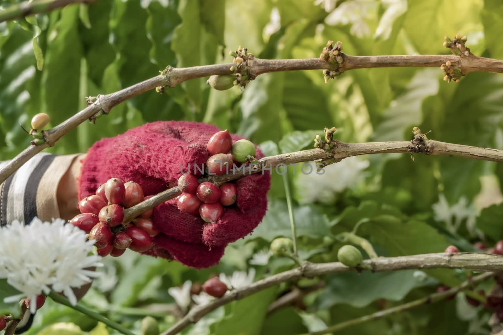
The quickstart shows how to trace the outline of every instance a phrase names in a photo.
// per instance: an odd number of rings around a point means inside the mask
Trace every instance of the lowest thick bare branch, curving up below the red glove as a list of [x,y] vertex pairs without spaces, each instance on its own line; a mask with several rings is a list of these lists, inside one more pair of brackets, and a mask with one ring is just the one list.
[[298,280],[302,277],[313,278],[329,273],[364,271],[396,271],[406,269],[467,269],[474,271],[501,271],[503,270],[503,256],[457,253],[457,254],[424,254],[400,257],[379,257],[372,260],[365,260],[361,267],[349,268],[340,262],[334,263],[311,263],[304,262],[301,267],[284,271],[274,276],[259,280],[247,287],[232,290],[223,297],[210,301],[205,305],[192,308],[187,315],[175,323],[171,328],[161,335],[175,335],[192,323],[199,321],[204,315],[212,310],[223,306],[231,301],[239,300],[251,294],[257,293],[277,284]]

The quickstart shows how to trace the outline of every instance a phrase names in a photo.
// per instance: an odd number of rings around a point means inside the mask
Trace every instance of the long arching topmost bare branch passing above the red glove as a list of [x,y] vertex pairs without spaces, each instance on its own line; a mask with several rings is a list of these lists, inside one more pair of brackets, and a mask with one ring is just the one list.
[[[62,0],[61,0],[62,1]],[[458,55],[393,55],[393,56],[350,56],[344,55],[344,61],[338,65],[339,73],[363,68],[378,67],[440,67],[450,61],[453,66],[459,67],[461,73],[470,72],[494,72],[503,73],[503,60],[478,57],[472,54],[469,56]],[[68,120],[57,125],[53,129],[43,132],[45,143],[40,145],[32,144],[23,150],[13,160],[0,169],[0,183],[4,182],[19,167],[26,163],[31,157],[56,144],[56,142],[82,122],[95,115],[108,114],[110,110],[119,103],[126,101],[136,95],[154,89],[158,86],[175,87],[176,85],[191,79],[208,77],[214,74],[231,74],[230,68],[235,63],[214,64],[204,66],[193,66],[186,68],[174,68],[168,66],[158,76],[131,85],[117,92],[99,95],[90,106],[80,110]],[[299,71],[299,70],[332,70],[332,65],[319,58],[306,59],[260,59],[249,57],[244,68],[248,71],[250,78],[255,78],[260,74],[279,71]],[[440,144],[440,142],[439,142]],[[438,148],[437,150],[442,150]],[[491,149],[487,149],[491,150]],[[403,152],[403,151],[401,151]],[[494,153],[487,151],[479,155],[488,155],[487,159]],[[450,153],[444,155],[450,156]],[[454,154],[454,156],[459,156]],[[466,156],[470,157],[470,156]],[[474,158],[474,157],[470,157]],[[501,157],[498,156],[500,159]],[[478,158],[485,159],[485,158]],[[491,160],[491,159],[489,159]],[[492,159],[495,160],[495,159]],[[499,161],[499,160],[498,160]]]

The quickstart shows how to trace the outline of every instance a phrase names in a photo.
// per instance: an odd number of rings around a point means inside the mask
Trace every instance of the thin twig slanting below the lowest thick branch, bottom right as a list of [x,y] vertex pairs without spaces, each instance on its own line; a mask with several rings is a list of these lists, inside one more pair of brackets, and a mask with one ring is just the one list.
[[357,317],[352,320],[343,321],[341,323],[337,323],[332,326],[329,326],[326,329],[312,331],[309,334],[303,334],[303,335],[322,335],[322,334],[327,334],[330,332],[336,332],[336,331],[350,327],[355,324],[360,324],[360,323],[364,323],[364,322],[368,322],[368,321],[372,321],[372,320],[377,320],[377,319],[380,319],[381,317],[384,317],[384,316],[387,316],[387,315],[390,315],[393,313],[403,312],[404,310],[408,310],[408,309],[412,309],[412,308],[419,307],[422,305],[426,305],[428,303],[435,303],[435,302],[441,301],[441,300],[443,300],[453,294],[456,294],[459,291],[462,291],[466,288],[472,287],[473,285],[475,285],[477,283],[480,283],[484,280],[487,280],[487,279],[491,278],[493,275],[494,275],[493,273],[487,272],[487,273],[478,275],[476,277],[470,278],[467,281],[463,282],[461,285],[459,285],[457,287],[453,287],[447,291],[433,293],[433,294],[427,295],[426,297],[423,297],[423,298],[420,298],[417,300],[413,300],[413,301],[410,301],[410,302],[407,302],[407,303],[404,303],[404,304],[401,304],[398,306],[394,306],[394,307],[391,307],[388,309],[380,310],[378,312],[375,312],[375,313],[372,313],[369,315]]

